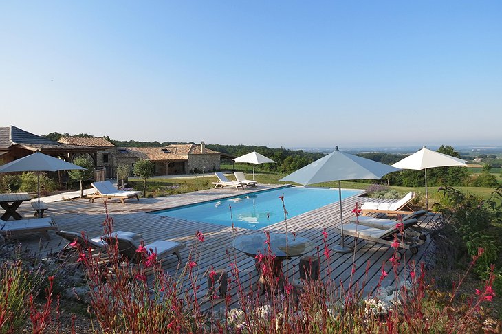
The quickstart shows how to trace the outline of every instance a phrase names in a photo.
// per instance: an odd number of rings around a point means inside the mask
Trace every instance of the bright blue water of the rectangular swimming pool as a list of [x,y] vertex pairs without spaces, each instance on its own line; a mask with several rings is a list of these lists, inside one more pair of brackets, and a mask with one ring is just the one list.
[[[360,193],[360,190],[342,190],[342,199]],[[281,195],[284,195],[288,219],[338,201],[338,189],[287,187],[151,213],[232,226],[231,205],[235,227],[257,230],[284,220]]]

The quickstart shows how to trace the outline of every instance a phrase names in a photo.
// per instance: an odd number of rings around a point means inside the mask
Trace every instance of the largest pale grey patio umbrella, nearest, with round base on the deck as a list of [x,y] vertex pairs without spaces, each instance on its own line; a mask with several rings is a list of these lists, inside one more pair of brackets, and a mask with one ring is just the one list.
[[343,234],[343,214],[342,214],[342,186],[341,180],[360,180],[360,179],[381,179],[389,172],[400,170],[380,162],[374,162],[370,159],[351,155],[342,151],[329,153],[312,164],[296,170],[287,177],[279,181],[292,181],[307,186],[309,184],[338,181],[338,194],[340,197],[340,230],[342,232],[342,242],[340,246],[334,247],[336,252],[347,253],[351,248],[345,247]]

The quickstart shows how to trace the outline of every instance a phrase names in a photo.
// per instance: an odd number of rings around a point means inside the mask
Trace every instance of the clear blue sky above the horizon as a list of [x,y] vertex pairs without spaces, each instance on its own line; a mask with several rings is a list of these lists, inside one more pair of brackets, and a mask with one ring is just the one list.
[[0,126],[502,144],[502,1],[2,1]]

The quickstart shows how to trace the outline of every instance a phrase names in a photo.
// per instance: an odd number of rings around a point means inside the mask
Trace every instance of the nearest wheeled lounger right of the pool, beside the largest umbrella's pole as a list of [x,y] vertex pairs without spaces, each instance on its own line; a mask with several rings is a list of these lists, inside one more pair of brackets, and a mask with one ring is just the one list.
[[398,229],[395,224],[387,230],[382,230],[380,228],[349,223],[343,225],[343,233],[346,236],[353,236],[354,238],[372,241],[373,243],[382,243],[384,245],[392,245],[394,242],[394,234],[397,234],[397,240],[399,241],[400,248],[410,249],[411,254],[417,254],[418,247],[425,243],[424,238],[406,234],[406,230],[410,229],[417,223],[418,220],[416,218],[408,219],[406,222],[403,222],[405,232],[404,236],[400,235],[400,229]]

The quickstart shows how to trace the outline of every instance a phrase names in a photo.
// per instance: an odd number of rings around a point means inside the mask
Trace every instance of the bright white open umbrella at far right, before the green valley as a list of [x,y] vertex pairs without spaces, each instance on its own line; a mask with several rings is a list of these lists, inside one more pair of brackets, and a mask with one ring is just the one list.
[[392,166],[401,169],[425,170],[425,205],[426,210],[429,210],[428,194],[427,194],[427,168],[446,167],[446,166],[467,166],[466,160],[462,160],[450,155],[429,150],[425,146],[422,150],[405,157],[396,162]]

